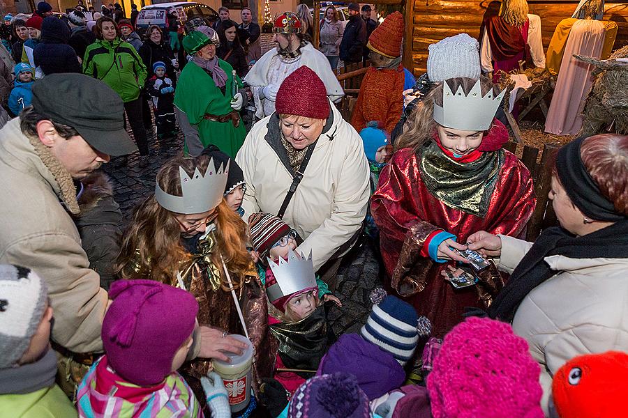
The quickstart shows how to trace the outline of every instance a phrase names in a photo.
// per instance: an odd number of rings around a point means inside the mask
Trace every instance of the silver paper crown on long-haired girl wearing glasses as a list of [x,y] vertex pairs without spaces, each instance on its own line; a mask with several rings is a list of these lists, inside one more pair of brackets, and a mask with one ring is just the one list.
[[159,182],[156,182],[155,199],[162,208],[170,212],[185,214],[207,212],[216,208],[223,200],[228,174],[229,162],[224,169],[223,164],[220,164],[216,170],[213,158],[209,159],[204,176],[198,169],[194,169],[194,174],[190,177],[182,167],[179,167],[182,196],[167,194],[159,187]]

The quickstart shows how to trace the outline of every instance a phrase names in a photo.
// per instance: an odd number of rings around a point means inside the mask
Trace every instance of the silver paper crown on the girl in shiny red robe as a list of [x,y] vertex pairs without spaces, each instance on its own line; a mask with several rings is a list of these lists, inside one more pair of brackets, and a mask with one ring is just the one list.
[[434,104],[434,120],[444,127],[468,131],[488,130],[506,91],[493,98],[493,90],[482,97],[480,80],[468,95],[462,86],[451,92],[447,80],[442,83],[442,107]]

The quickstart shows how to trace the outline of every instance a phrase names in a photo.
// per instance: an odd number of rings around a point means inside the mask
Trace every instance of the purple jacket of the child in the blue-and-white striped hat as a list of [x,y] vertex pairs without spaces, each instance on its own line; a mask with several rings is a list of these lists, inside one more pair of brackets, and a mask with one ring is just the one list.
[[359,334],[343,334],[321,359],[317,376],[345,372],[354,375],[369,400],[398,389],[405,381],[401,364]]

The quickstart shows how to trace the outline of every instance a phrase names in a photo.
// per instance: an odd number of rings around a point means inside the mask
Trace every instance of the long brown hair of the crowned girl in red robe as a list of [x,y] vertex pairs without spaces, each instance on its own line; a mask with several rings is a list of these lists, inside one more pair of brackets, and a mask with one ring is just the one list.
[[[451,91],[456,92],[459,86],[462,86],[465,95],[468,95],[477,79],[471,79],[467,77],[457,77],[453,79],[447,79],[446,82],[451,88]],[[499,94],[498,88],[493,85],[493,82],[487,77],[480,77],[480,86],[482,96],[486,95],[488,91],[493,89],[493,97]],[[438,123],[434,121],[434,103],[442,106],[442,83],[436,84],[432,90],[426,94],[425,98],[417,109],[412,113],[405,127],[403,133],[399,135],[395,141],[395,150],[401,148],[414,148],[416,152],[426,141],[429,141],[434,132],[436,132],[436,126]]]

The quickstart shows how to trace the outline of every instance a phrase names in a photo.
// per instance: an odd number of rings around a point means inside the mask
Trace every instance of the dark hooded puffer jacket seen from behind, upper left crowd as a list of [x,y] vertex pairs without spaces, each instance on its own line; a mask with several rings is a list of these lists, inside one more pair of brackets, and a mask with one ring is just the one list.
[[70,27],[57,17],[46,17],[41,24],[41,42],[33,51],[36,67],[45,75],[57,72],[81,72],[76,52],[70,45]]

